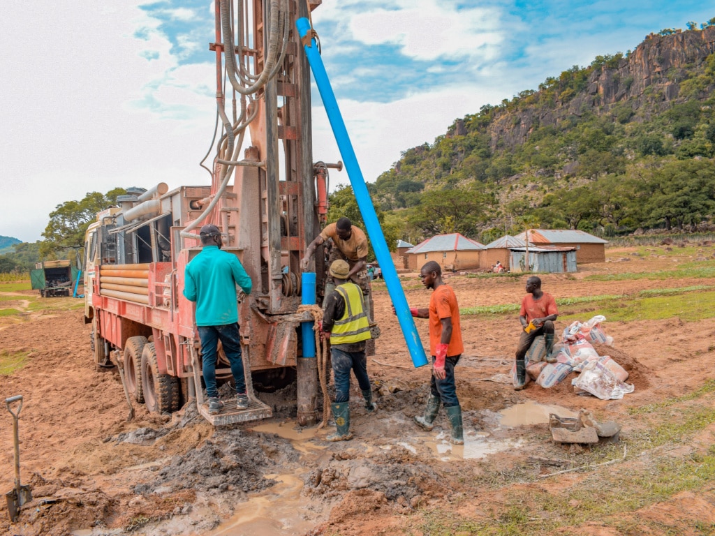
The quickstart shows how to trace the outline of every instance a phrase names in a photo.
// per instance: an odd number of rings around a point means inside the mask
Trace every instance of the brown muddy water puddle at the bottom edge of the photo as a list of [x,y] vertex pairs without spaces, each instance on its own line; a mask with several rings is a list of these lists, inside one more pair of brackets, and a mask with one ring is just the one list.
[[315,527],[315,520],[307,520],[301,514],[307,510],[305,499],[300,497],[303,481],[298,473],[265,476],[278,483],[237,505],[233,517],[209,535],[299,536]]

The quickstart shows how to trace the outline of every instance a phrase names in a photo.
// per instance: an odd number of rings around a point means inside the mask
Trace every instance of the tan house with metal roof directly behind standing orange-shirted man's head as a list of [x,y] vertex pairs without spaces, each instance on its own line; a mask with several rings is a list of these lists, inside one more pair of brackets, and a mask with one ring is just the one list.
[[409,267],[418,270],[425,262],[436,261],[443,270],[462,270],[479,267],[479,257],[486,250],[484,244],[462,234],[438,234],[407,250]]

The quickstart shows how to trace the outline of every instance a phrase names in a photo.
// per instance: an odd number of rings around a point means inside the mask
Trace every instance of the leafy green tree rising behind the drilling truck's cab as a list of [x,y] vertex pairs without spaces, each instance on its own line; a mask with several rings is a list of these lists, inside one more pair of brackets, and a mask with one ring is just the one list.
[[49,223],[42,236],[41,258],[54,256],[63,249],[79,249],[84,243],[84,232],[97,217],[97,212],[117,204],[117,196],[126,194],[124,188],[114,188],[107,194],[89,192],[81,201],[66,201],[49,214]]

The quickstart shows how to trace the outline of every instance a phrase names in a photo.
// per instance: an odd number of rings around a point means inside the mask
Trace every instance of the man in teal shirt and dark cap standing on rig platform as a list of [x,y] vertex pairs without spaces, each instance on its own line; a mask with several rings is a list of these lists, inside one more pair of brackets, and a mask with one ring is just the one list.
[[222,252],[221,231],[215,225],[204,225],[199,232],[203,249],[184,272],[184,297],[196,302],[196,325],[201,339],[201,354],[209,413],[217,415],[223,408],[216,387],[218,341],[231,364],[236,384],[237,407],[248,407],[246,381],[241,359],[241,338],[238,328],[236,285],[246,294],[252,283],[235,255]]

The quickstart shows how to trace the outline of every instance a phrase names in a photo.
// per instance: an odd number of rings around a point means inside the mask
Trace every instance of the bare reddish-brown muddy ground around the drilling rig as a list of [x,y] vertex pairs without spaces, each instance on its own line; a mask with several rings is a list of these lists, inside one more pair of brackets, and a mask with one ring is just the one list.
[[[674,264],[713,259],[705,244],[694,254],[634,254],[635,249],[608,249],[607,262],[585,264],[576,274],[543,275],[543,288],[557,299],[602,294],[633,294],[644,289],[714,285],[715,278],[629,279],[589,282],[591,274],[658,272]],[[677,252],[676,252],[677,253]],[[715,262],[715,261],[714,261]],[[449,274],[460,307],[518,303],[526,277],[473,278]],[[428,303],[429,291],[416,274],[403,282],[411,306]],[[0,294],[2,289],[0,288]],[[0,398],[22,394],[21,474],[34,500],[14,524],[4,505],[0,533],[8,535],[393,535],[429,534],[420,524],[431,514],[450,512],[481,522],[504,506],[514,490],[533,486],[539,493],[573,485],[581,473],[565,472],[548,460],[571,460],[596,447],[551,441],[545,420],[504,425],[501,410],[528,402],[578,412],[591,410],[598,420],[623,426],[621,441],[638,428],[633,407],[679,397],[715,378],[715,322],[712,317],[684,322],[678,317],[655,321],[603,324],[613,347],[598,347],[631,374],[635,391],[621,400],[573,394],[571,377],[553,389],[536,384],[521,392],[501,382],[513,362],[519,337],[516,314],[462,318],[465,354],[457,373],[463,405],[464,447],[445,441],[448,422],[439,415],[433,432],[412,423],[423,409],[429,371],[414,369],[385,284],[374,286],[375,314],[382,329],[368,370],[378,392],[379,410],[367,415],[353,385],[352,431],[355,439],[325,442],[327,429],[300,430],[291,412],[295,388],[260,393],[277,417],[235,427],[212,429],[194,407],[172,416],[149,415],[135,405],[127,422],[127,403],[116,369],[98,372],[89,350],[89,327],[72,298],[51,311],[25,310],[34,292],[5,294],[2,307],[20,314],[0,317],[0,350],[29,352],[26,364],[0,376]],[[573,307],[570,308],[573,310]],[[593,315],[583,306],[582,321]],[[571,321],[557,321],[557,333]],[[418,320],[423,341],[426,322]],[[538,409],[538,407],[537,407]],[[547,411],[548,412],[548,411]],[[13,486],[11,417],[0,419],[0,491]],[[709,426],[699,441],[711,443]],[[539,462],[541,460],[541,462]],[[624,462],[625,463],[625,462]],[[521,481],[484,485],[518,467]],[[497,475],[497,476],[494,476]],[[498,480],[498,478],[497,478]],[[477,482],[477,484],[475,484]],[[693,532],[694,520],[715,527],[715,492],[698,497],[679,494],[657,507],[628,516],[667,517],[679,534]],[[420,528],[421,527],[421,528]],[[528,532],[528,531],[526,531]],[[524,532],[524,533],[526,533]],[[435,532],[447,534],[450,532]],[[471,532],[455,532],[469,534]],[[515,532],[517,533],[517,532]],[[571,533],[571,532],[564,532]],[[574,534],[616,534],[587,520]]]

